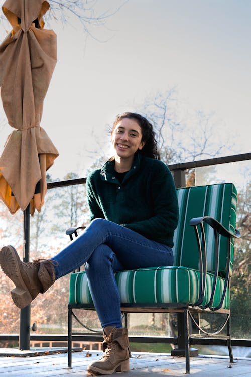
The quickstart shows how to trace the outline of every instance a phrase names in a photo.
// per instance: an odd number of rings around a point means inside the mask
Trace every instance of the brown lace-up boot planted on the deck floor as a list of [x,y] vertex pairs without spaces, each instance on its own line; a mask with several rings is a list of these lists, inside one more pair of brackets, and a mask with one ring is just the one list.
[[89,364],[91,374],[112,374],[129,370],[128,329],[113,326],[104,328],[103,356]]

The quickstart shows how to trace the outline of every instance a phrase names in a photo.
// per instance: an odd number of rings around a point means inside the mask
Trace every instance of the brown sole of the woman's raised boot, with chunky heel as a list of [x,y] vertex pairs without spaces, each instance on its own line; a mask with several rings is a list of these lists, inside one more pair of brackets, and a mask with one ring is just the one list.
[[32,297],[22,279],[18,263],[19,260],[19,255],[13,246],[4,246],[1,249],[1,268],[16,286],[11,291],[12,300],[18,308],[23,309],[32,302]]

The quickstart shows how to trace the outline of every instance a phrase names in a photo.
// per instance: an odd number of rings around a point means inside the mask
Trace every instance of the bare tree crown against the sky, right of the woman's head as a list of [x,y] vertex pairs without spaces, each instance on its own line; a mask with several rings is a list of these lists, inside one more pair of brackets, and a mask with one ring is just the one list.
[[189,108],[184,113],[184,108],[184,104],[177,99],[174,87],[148,96],[139,110],[154,125],[163,160],[175,163],[214,157],[224,148],[230,149],[227,135],[223,140],[220,137],[220,127],[213,112],[192,111]]

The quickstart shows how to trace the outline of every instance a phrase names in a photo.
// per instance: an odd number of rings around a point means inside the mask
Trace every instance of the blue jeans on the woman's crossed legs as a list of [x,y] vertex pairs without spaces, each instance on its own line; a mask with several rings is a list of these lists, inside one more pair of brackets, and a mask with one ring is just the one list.
[[122,327],[114,272],[173,265],[172,249],[104,219],[88,227],[53,260],[56,279],[85,264],[92,300],[102,327]]

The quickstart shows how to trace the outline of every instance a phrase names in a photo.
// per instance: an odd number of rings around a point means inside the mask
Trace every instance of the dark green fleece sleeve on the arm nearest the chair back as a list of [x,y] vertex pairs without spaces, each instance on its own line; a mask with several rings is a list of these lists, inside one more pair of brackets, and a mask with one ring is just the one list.
[[[172,239],[178,224],[179,209],[174,180],[164,163],[153,173],[150,190],[153,216],[123,225],[149,239],[162,239],[164,234]],[[170,247],[172,246],[173,244],[170,245]]]

